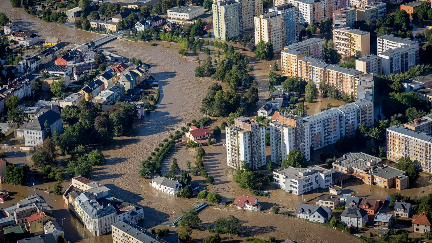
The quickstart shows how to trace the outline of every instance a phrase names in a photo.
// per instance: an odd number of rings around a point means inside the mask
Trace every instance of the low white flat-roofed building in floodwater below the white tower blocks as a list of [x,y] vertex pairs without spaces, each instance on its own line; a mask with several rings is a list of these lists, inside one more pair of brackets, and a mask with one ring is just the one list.
[[284,189],[286,193],[302,195],[318,188],[328,188],[333,185],[333,172],[319,166],[294,168],[291,166],[273,172],[275,186]]

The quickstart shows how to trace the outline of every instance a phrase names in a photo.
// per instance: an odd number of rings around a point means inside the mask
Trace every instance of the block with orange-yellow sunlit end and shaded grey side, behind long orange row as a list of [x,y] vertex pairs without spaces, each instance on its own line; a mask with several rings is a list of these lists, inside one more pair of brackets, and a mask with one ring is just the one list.
[[282,75],[288,77],[299,76],[299,58],[309,56],[324,59],[324,40],[310,38],[304,42],[293,43],[281,51]]

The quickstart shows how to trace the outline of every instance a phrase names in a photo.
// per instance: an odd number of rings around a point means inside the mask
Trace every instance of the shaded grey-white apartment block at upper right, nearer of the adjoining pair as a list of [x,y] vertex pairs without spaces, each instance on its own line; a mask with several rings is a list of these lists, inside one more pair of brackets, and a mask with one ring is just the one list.
[[378,54],[382,58],[382,73],[384,75],[407,72],[420,63],[420,48],[418,45],[403,45]]

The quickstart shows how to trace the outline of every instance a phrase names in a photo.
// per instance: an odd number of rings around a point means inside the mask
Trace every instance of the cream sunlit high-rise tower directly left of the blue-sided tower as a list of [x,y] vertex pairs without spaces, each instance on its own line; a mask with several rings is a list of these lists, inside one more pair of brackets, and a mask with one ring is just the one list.
[[255,44],[271,42],[273,52],[283,50],[286,44],[285,16],[276,12],[260,14],[255,19]]

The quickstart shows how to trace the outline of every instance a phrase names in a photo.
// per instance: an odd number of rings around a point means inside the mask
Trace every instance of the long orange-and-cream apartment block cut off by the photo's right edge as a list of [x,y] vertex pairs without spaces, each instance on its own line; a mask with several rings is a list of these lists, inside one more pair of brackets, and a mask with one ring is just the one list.
[[432,136],[395,125],[387,128],[387,159],[397,162],[400,157],[416,161],[423,171],[432,172]]

